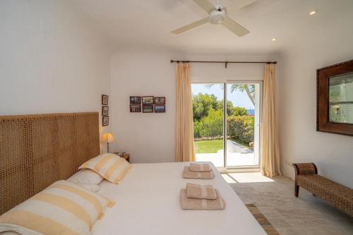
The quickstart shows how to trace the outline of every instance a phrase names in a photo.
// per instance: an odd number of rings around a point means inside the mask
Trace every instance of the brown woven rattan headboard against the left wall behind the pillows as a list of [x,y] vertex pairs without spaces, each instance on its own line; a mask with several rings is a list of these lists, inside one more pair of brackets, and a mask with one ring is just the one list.
[[0,215],[100,153],[98,113],[0,116]]

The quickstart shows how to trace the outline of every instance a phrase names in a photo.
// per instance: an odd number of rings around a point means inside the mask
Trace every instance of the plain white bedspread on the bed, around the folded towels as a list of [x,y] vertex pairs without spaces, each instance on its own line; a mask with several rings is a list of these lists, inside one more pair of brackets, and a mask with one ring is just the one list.
[[[133,164],[124,181],[100,183],[99,193],[116,201],[93,227],[94,235],[109,234],[265,234],[231,186],[215,171],[215,179],[183,179],[187,162]],[[180,188],[186,183],[212,184],[225,200],[225,210],[181,210]]]

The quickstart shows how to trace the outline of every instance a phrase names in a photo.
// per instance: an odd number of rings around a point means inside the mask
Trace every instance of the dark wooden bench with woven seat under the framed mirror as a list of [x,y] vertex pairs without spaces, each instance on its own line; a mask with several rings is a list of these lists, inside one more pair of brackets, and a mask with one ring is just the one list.
[[313,163],[293,164],[295,169],[295,193],[298,197],[299,186],[313,193],[334,207],[353,217],[353,190],[340,183],[318,175],[318,169]]

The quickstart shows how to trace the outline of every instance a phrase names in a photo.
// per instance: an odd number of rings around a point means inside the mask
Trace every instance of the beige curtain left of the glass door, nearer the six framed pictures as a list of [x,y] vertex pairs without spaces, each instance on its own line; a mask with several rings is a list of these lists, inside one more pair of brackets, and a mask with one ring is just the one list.
[[175,161],[194,162],[193,104],[189,63],[178,63],[176,68],[177,114],[175,126]]

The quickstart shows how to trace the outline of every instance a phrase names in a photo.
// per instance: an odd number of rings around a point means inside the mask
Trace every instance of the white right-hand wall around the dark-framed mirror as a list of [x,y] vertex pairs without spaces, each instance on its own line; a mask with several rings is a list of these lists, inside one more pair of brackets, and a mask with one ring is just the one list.
[[353,137],[316,132],[316,69],[353,59],[351,9],[302,34],[281,56],[280,145],[287,163],[314,162],[319,174],[353,188]]

